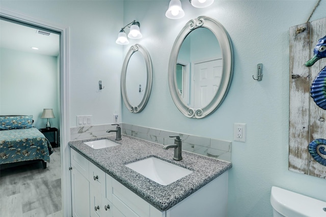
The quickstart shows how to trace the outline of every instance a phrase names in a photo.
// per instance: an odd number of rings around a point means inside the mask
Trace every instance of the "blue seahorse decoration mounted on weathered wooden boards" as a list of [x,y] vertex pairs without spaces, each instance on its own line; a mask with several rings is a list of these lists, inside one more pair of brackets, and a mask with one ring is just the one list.
[[[326,36],[319,39],[315,48],[314,56],[306,62],[307,67],[311,67],[318,59],[326,57]],[[326,66],[318,73],[310,87],[310,94],[314,102],[320,108],[326,110]],[[319,164],[326,166],[326,140],[315,139],[309,146],[310,155]]]

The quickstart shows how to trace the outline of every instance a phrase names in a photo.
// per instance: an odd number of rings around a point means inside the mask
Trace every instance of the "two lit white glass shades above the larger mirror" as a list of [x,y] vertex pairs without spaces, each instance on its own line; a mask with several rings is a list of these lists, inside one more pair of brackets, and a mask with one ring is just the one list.
[[[214,0],[189,0],[195,8],[206,8],[213,4]],[[165,16],[170,19],[180,19],[184,16],[180,0],[171,0]]]

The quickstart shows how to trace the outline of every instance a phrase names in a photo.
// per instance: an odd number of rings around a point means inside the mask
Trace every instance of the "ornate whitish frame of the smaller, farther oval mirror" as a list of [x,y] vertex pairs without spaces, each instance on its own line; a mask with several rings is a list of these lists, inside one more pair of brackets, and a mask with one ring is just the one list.
[[[128,67],[130,57],[132,56],[132,54],[134,52],[137,52],[137,51],[140,52],[145,59],[146,71],[147,71],[147,82],[146,82],[144,97],[143,97],[142,101],[140,102],[140,104],[139,105],[131,105],[129,98],[127,96],[126,75],[127,75],[127,67]],[[124,59],[123,66],[122,66],[122,72],[121,72],[122,99],[123,99],[125,106],[127,107],[127,109],[130,112],[138,113],[138,112],[141,112],[145,108],[145,106],[148,102],[150,93],[151,93],[151,89],[152,89],[152,74],[153,74],[152,73],[152,61],[151,61],[148,51],[140,44],[135,44],[135,45],[131,46],[127,52],[125,59]]]

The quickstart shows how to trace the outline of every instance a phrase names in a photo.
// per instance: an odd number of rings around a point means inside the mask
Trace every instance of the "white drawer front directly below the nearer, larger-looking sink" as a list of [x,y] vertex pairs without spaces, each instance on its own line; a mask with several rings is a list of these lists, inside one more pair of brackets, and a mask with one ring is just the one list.
[[[134,212],[135,215],[132,213],[127,213],[126,216],[150,216],[150,204],[147,203],[145,200],[140,198],[135,193],[131,192],[129,189],[124,187],[121,183],[117,180],[112,180],[112,202],[113,204],[124,214],[124,210],[121,210],[123,206],[126,207],[126,210]],[[128,208],[128,209],[127,209]]]

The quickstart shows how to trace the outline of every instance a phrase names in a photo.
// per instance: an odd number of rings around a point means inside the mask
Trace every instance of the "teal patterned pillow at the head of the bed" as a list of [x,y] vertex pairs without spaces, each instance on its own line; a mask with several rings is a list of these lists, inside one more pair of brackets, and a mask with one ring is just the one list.
[[0,130],[32,128],[33,115],[0,116]]

